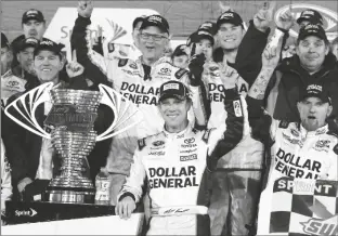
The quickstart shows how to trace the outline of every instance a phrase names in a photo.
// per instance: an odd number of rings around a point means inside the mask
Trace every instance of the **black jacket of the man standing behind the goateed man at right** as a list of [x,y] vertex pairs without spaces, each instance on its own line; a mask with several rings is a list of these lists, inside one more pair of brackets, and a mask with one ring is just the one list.
[[[338,78],[337,69],[335,69],[336,58],[333,54],[325,57],[323,68],[310,75],[300,66],[298,55],[285,58],[276,68],[276,71],[271,78],[271,82],[266,90],[269,95],[271,88],[275,86],[277,77],[281,77],[281,82],[277,88],[276,103],[273,110],[273,118],[278,120],[287,120],[290,122],[299,121],[299,113],[297,109],[297,102],[299,101],[299,93],[306,89],[310,83],[321,82],[327,87],[333,100],[333,116],[338,115]],[[278,76],[278,74],[281,76]],[[268,105],[274,100],[268,99]],[[271,110],[272,112],[272,110]]]

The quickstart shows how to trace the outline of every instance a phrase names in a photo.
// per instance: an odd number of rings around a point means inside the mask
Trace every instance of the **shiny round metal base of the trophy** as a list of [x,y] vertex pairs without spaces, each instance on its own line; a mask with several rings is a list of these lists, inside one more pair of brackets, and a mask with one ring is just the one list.
[[[50,187],[49,187],[50,188]],[[93,204],[95,189],[47,189],[46,198],[50,202],[63,204]]]

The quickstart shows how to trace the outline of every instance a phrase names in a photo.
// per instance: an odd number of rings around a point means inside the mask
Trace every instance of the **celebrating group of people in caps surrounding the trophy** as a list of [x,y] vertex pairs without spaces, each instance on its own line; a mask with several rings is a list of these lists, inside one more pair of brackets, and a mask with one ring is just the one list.
[[[2,210],[9,199],[36,199],[57,174],[51,141],[3,112],[46,82],[92,91],[105,84],[134,104],[130,113],[140,112],[136,126],[96,143],[88,161],[92,180],[102,167],[109,173],[116,214],[144,210],[148,235],[268,235],[264,205],[275,180],[338,181],[338,40],[328,41],[318,12],[295,19],[289,9],[274,25],[271,2],[245,27],[224,9],[168,53],[161,15],[134,19],[132,45],[93,44],[93,3],[77,9],[72,62],[42,37],[38,10],[24,13],[24,34],[12,43],[1,32]],[[291,44],[294,24],[300,29]],[[37,108],[41,127],[50,109]],[[101,133],[116,117],[104,106],[98,114]]]

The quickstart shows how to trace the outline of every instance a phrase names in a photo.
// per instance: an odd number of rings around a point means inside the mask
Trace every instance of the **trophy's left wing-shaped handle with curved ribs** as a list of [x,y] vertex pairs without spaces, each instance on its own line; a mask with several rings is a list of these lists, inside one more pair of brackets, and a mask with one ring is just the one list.
[[[29,92],[23,94],[22,96],[14,100],[11,104],[9,104],[5,109],[4,114],[11,118],[14,122],[18,123],[20,126],[24,127],[25,129],[29,130],[30,132],[44,137],[44,139],[51,139],[51,134],[46,132],[40,124],[38,123],[35,113],[37,107],[44,102],[50,101],[50,94],[49,92],[53,88],[53,82],[42,83],[41,86],[30,90]],[[28,104],[26,104],[25,100],[28,97]],[[21,102],[21,105],[24,109],[24,112],[27,114],[23,114],[22,109],[17,106],[18,102]],[[25,124],[14,116],[12,116],[9,112],[9,109],[13,107],[23,118],[25,118],[34,128]]]

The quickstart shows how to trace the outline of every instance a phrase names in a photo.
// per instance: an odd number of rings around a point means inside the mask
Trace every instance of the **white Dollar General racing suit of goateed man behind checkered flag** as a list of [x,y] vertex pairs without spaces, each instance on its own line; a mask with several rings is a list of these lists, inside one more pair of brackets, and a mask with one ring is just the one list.
[[328,124],[307,131],[298,122],[272,119],[263,114],[257,100],[248,99],[249,118],[264,118],[262,137],[271,140],[271,166],[261,194],[258,235],[269,235],[274,183],[283,176],[337,181],[338,135]]

